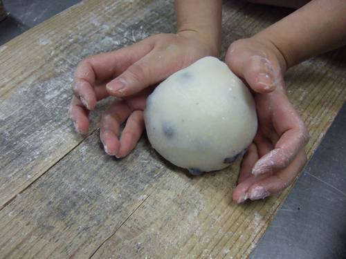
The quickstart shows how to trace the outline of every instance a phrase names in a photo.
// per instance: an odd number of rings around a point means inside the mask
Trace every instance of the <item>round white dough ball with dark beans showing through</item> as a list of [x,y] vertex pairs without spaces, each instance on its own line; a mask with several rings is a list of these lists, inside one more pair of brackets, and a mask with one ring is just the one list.
[[253,96],[215,57],[199,59],[158,85],[144,119],[153,148],[194,175],[228,166],[257,131]]

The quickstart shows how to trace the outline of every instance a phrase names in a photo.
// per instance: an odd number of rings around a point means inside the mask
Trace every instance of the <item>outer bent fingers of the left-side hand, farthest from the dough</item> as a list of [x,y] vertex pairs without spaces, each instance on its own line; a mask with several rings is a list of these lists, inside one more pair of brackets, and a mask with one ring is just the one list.
[[[78,132],[87,133],[89,111],[95,108],[96,102],[109,96],[106,88],[109,80],[124,73],[152,49],[148,44],[135,45],[88,57],[78,65],[72,87],[75,97],[69,108],[69,115]],[[116,148],[114,141],[110,143],[110,150]]]

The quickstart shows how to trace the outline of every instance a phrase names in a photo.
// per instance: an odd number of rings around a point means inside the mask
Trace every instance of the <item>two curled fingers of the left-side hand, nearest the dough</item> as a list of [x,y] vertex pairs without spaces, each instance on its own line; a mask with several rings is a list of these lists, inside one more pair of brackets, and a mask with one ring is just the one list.
[[[126,119],[119,140],[120,125]],[[114,101],[102,115],[100,139],[104,151],[118,158],[125,157],[136,146],[144,128],[143,111],[132,111],[123,100]]]

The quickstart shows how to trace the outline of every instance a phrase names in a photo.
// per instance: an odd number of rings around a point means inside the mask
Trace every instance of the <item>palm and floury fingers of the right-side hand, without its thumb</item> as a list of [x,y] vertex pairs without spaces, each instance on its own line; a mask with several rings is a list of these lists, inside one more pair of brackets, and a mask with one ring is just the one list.
[[281,193],[302,170],[306,128],[284,90],[255,94],[258,129],[244,156],[233,199],[257,200]]

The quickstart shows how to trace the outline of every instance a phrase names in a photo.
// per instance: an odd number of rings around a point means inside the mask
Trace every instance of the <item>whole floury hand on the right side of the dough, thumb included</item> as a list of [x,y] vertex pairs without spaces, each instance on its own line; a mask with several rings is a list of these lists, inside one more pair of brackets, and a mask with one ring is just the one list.
[[[309,133],[286,96],[286,63],[269,42],[242,39],[230,46],[226,63],[255,95],[258,129],[242,162],[235,202],[281,193],[307,162]],[[271,93],[269,93],[271,92]]]

